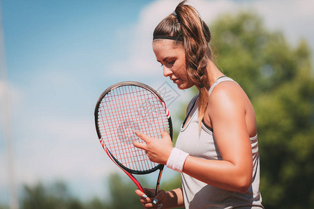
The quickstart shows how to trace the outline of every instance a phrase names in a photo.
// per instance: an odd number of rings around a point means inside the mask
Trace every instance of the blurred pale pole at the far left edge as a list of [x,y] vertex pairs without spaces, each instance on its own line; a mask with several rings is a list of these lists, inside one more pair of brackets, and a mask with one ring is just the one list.
[[17,192],[15,187],[15,173],[13,164],[13,143],[11,130],[11,111],[10,111],[10,96],[8,89],[8,76],[6,69],[6,51],[4,45],[3,22],[1,12],[0,0],[0,84],[2,91],[1,97],[1,122],[3,127],[3,137],[6,141],[6,157],[7,157],[7,173],[8,173],[8,187],[10,196],[10,209],[18,209],[19,203],[17,199]]

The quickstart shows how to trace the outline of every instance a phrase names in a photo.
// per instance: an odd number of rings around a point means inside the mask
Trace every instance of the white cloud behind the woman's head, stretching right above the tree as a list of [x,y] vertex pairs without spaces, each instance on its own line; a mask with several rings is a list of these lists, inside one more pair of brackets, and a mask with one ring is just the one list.
[[[125,73],[145,77],[147,75],[162,76],[160,70],[156,70],[154,53],[151,49],[152,33],[155,26],[164,17],[172,13],[179,1],[160,0],[154,1],[142,10],[137,24],[133,29],[128,29],[133,34],[130,36],[130,54],[126,61],[115,66],[114,75]],[[202,19],[209,23],[219,15],[234,14],[240,10],[255,11],[260,15],[265,25],[271,30],[281,30],[288,40],[297,44],[300,38],[306,38],[314,48],[314,1],[288,0],[288,1],[231,1],[231,0],[190,0],[188,3],[194,6]],[[127,72],[126,72],[127,70]]]

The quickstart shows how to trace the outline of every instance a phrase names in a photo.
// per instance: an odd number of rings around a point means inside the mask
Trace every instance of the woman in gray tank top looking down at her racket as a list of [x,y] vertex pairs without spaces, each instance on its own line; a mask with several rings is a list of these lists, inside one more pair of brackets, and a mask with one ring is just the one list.
[[180,89],[196,86],[199,94],[188,105],[175,148],[166,132],[160,140],[135,132],[146,144],[133,142],[151,161],[179,171],[182,187],[154,198],[135,192],[144,208],[263,208],[254,109],[211,61],[209,29],[185,3],[156,26],[153,50],[165,77]]

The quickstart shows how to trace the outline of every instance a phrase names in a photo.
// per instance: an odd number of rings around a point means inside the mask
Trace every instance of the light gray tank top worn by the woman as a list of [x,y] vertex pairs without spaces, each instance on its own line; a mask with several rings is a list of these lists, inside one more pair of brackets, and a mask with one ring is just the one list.
[[[228,77],[220,77],[209,88],[211,91],[221,82],[234,82]],[[188,122],[184,121],[176,147],[184,150],[194,157],[209,160],[222,160],[216,145],[213,130],[202,123],[202,129],[198,132],[198,111],[193,98],[191,107],[188,107]],[[188,118],[188,116],[186,116]],[[244,194],[219,189],[201,182],[186,173],[181,173],[184,204],[186,208],[263,208],[260,194],[260,156],[258,153],[257,135],[251,137],[253,153],[253,179],[251,187]]]

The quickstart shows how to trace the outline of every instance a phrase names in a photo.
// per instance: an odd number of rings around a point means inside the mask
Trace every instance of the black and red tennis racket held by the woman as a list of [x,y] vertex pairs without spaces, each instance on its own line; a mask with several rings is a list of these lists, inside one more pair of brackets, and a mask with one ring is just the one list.
[[172,121],[163,98],[145,84],[120,82],[100,95],[94,115],[103,149],[142,192],[145,193],[144,188],[132,174],[147,174],[159,169],[157,194],[164,165],[151,162],[144,150],[133,146],[133,140],[145,143],[133,131],[156,140],[165,131],[172,139]]

